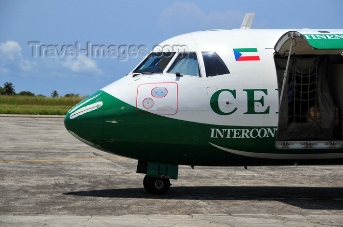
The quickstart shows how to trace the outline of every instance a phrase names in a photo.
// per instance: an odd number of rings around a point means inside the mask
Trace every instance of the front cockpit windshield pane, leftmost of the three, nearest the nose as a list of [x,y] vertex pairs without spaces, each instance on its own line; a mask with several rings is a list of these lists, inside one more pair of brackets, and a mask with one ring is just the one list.
[[151,53],[133,72],[163,72],[174,54],[175,52]]

